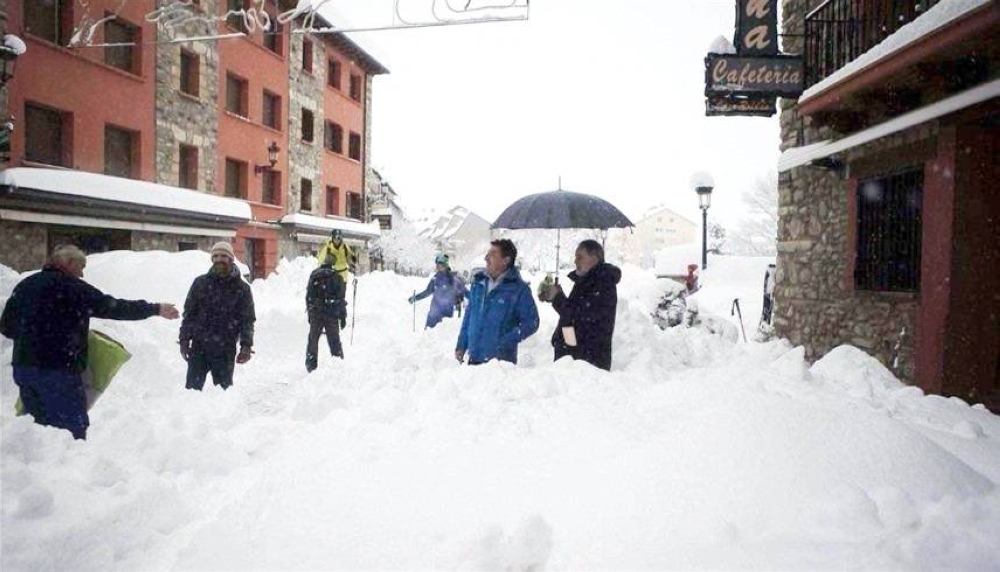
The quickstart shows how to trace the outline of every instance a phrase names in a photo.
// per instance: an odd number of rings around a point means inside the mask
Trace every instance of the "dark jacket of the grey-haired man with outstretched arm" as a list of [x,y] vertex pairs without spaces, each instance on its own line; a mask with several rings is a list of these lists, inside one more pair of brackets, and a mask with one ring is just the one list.
[[158,304],[119,300],[46,266],[14,288],[0,333],[14,340],[15,366],[80,373],[87,369],[90,318],[143,320],[159,312]]

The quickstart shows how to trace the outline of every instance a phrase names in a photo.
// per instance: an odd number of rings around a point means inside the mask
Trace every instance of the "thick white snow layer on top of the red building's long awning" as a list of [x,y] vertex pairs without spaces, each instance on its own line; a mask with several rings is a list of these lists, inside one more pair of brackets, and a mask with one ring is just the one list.
[[0,172],[0,186],[130,203],[249,221],[244,201],[148,181],[68,169],[16,167]]

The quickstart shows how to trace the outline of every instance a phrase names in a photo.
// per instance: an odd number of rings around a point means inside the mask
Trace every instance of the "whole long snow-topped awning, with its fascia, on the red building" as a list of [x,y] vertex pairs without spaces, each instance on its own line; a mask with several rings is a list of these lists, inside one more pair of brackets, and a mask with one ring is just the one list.
[[85,171],[18,167],[0,172],[0,206],[182,226],[231,227],[253,216],[246,202]]

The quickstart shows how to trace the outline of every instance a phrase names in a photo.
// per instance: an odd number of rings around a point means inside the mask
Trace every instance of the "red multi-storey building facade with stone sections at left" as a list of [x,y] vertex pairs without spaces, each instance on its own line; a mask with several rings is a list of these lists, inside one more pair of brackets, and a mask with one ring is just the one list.
[[[179,211],[173,226],[147,232],[138,216],[69,220],[27,197],[13,201],[7,185],[0,191],[0,239],[31,246],[8,249],[0,263],[36,268],[53,243],[66,240],[101,251],[207,249],[228,239],[252,276],[262,277],[279,254],[309,251],[295,247],[299,233],[282,226],[286,216],[304,212],[333,221],[322,221],[324,230],[340,219],[364,218],[362,209],[351,209],[363,204],[367,96],[374,75],[386,70],[345,37],[294,32],[299,20],[279,24],[295,4],[269,0],[265,18],[257,2],[200,0],[186,8],[192,17],[183,25],[166,25],[151,17],[153,0],[9,0],[7,31],[23,37],[28,51],[7,85],[7,112],[16,125],[7,166],[154,182],[178,196],[240,201],[248,214],[234,221],[223,200],[218,210],[227,216],[218,224],[196,216],[185,225]],[[268,20],[274,27],[265,31],[260,24]],[[185,41],[219,35],[226,37]],[[312,71],[295,49],[305,41],[314,50]],[[331,79],[333,69],[339,79]],[[303,139],[302,85],[320,93],[307,103],[311,142]],[[339,145],[329,141],[328,124],[340,127]],[[303,181],[312,187],[307,208]]]

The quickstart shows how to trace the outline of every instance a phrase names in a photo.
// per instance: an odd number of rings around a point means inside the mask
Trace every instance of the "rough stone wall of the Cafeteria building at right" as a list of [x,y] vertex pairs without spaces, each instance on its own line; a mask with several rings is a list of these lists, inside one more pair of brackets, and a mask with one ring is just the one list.
[[[820,3],[782,2],[785,53],[802,53],[805,15]],[[841,135],[800,117],[797,100],[782,99],[780,104],[782,150]],[[856,148],[841,157],[847,165],[844,171],[803,166],[780,174],[774,328],[779,336],[804,346],[807,359],[851,344],[900,378],[913,380],[917,295],[855,291],[848,276],[854,256],[848,247],[848,177],[858,159],[926,139],[933,130],[911,130]]]

